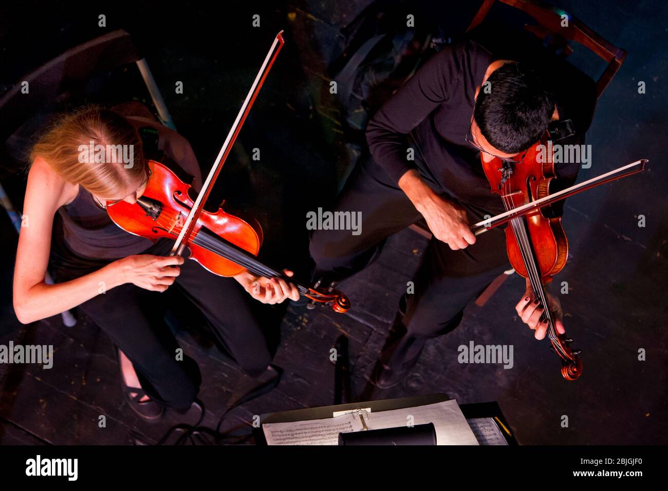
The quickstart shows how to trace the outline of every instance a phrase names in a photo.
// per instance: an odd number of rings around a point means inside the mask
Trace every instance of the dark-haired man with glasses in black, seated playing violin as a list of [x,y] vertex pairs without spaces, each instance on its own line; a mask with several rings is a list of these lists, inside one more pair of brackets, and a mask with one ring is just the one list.
[[[434,55],[369,122],[370,158],[357,164],[335,205],[337,211],[361,211],[361,234],[315,231],[315,276],[340,280],[359,271],[377,257],[387,237],[422,218],[433,234],[399,302],[372,376],[375,385],[399,383],[426,340],[457,327],[464,307],[510,269],[504,231],[494,228],[476,237],[469,228],[504,211],[501,198],[490,191],[481,156],[521,165],[550,122],[576,119],[570,108],[568,97],[548,89],[530,65],[495,59],[478,43],[464,41]],[[586,128],[574,124],[580,138]],[[556,171],[552,192],[574,182],[578,164],[558,165]],[[550,295],[548,303],[563,332],[558,300]],[[534,301],[530,285],[516,310],[542,339],[543,306]]]

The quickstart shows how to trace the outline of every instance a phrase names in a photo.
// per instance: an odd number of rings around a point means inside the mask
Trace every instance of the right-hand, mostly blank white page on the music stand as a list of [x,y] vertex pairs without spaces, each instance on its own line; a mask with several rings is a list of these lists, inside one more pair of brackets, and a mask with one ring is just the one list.
[[409,416],[412,416],[413,426],[434,423],[437,445],[478,445],[476,436],[454,399],[401,410],[371,413],[365,422],[369,430],[397,428],[406,426],[409,423]]

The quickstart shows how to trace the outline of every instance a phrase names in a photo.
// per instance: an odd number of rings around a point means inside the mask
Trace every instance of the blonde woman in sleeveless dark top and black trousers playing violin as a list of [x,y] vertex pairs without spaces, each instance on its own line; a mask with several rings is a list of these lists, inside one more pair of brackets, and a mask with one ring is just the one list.
[[[222,278],[194,261],[166,257],[171,240],[154,244],[110,220],[106,207],[120,200],[134,203],[150,179],[138,133],[146,126],[157,132],[160,150],[198,174],[190,145],[176,132],[147,118],[126,118],[97,107],[64,116],[32,148],[23,208],[27,226],[19,237],[13,303],[22,323],[79,306],[120,349],[130,407],[155,420],[165,406],[188,410],[201,381],[194,360],[177,360],[178,343],[156,308],[160,292],[176,283],[242,369],[254,376],[264,373],[271,355],[250,298],[279,303],[297,300],[299,293],[281,279],[248,272]],[[82,159],[81,149],[92,144],[129,151],[113,162]],[[200,179],[196,176],[196,182]],[[56,214],[60,219],[52,240]],[[44,283],[49,258],[55,285]]]

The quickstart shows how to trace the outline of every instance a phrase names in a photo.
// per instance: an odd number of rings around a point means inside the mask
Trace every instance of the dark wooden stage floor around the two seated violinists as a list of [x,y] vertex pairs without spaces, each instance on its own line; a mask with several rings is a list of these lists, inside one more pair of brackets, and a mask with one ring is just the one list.
[[[354,162],[354,152],[344,144],[337,103],[327,91],[325,66],[341,25],[367,3],[289,4],[287,11],[295,14],[288,17],[295,46],[281,54],[285,64],[277,63],[224,170],[221,194],[259,217],[268,231],[265,248],[274,264],[292,265],[305,257],[301,217],[305,210],[326,206]],[[665,63],[658,61],[663,48],[655,42],[659,37],[665,40],[664,29],[647,27],[651,19],[661,17],[659,7],[650,2],[629,10],[620,1],[606,3],[601,12],[580,2],[554,3],[629,51],[597,106],[588,134],[595,162],[582,170],[579,180],[637,158],[651,160],[645,175],[566,203],[564,223],[571,248],[568,265],[556,282],[568,282],[562,303],[566,330],[574,346],[583,349],[582,378],[564,381],[546,341],[535,341],[517,319],[514,305],[524,285],[514,275],[484,307],[470,305],[456,331],[430,341],[404,383],[369,391],[369,371],[426,245],[424,238],[405,230],[389,240],[375,264],[341,284],[354,303],[349,314],[287,309],[275,357],[285,369],[281,384],[234,410],[227,428],[243,426],[256,414],[333,403],[329,350],[343,334],[349,339],[356,399],[445,392],[460,403],[498,401],[522,444],[668,442],[668,172],[659,150],[659,142],[665,140],[667,94],[657,83],[668,73]],[[475,8],[452,5],[452,18],[472,15]],[[185,21],[193,20],[188,15],[200,19],[204,14],[186,9]],[[267,11],[263,35],[253,38],[248,51],[234,37],[228,41],[234,49],[221,52],[214,49],[213,38],[206,42],[183,35],[162,40],[164,44],[156,45],[154,56],[148,57],[165,88],[175,79],[198,88],[187,97],[165,90],[164,97],[205,169],[265,54],[265,38],[284,27],[283,17],[272,15],[275,11]],[[208,76],[202,77],[203,69]],[[638,80],[647,81],[643,96],[637,94]],[[259,163],[247,158],[255,147],[263,152]],[[647,217],[644,228],[637,226],[639,214]],[[156,442],[170,426],[182,422],[174,413],[154,425],[134,416],[124,403],[110,340],[86,319],[73,328],[64,327],[59,317],[29,326],[17,322],[11,307],[16,241],[4,215],[0,230],[7,248],[7,259],[0,263],[0,344],[53,344],[58,360],[51,370],[0,364],[0,444],[132,444],[134,433]],[[190,332],[180,329],[178,339],[200,364],[200,398],[207,408],[203,424],[214,427],[230,403],[259,381],[243,375],[216,347],[201,345]],[[514,367],[458,363],[458,346],[470,341],[513,345]],[[647,351],[646,361],[638,360],[639,349]],[[102,415],[106,428],[98,427]],[[564,416],[567,428],[562,427]]]

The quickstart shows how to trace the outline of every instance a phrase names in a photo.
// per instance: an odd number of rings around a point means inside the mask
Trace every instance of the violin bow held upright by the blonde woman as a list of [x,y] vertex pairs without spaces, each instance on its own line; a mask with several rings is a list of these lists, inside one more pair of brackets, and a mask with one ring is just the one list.
[[267,74],[271,69],[271,65],[274,64],[274,61],[276,61],[276,57],[279,55],[279,51],[281,51],[283,43],[285,43],[285,39],[283,39],[283,31],[281,31],[276,35],[274,42],[272,43],[271,48],[269,49],[269,53],[267,53],[267,57],[265,57],[265,61],[262,63],[262,67],[260,68],[260,71],[257,73],[255,81],[253,81],[251,90],[248,91],[246,100],[244,100],[244,103],[241,105],[239,114],[236,115],[236,120],[234,120],[232,128],[230,128],[230,132],[227,134],[227,138],[225,139],[225,142],[222,144],[220,152],[218,152],[218,157],[216,157],[216,162],[214,162],[208,176],[206,177],[206,180],[204,181],[204,185],[202,186],[202,191],[197,195],[197,199],[195,200],[194,205],[190,210],[190,213],[188,213],[188,217],[186,218],[186,221],[184,222],[184,225],[181,228],[181,232],[180,234],[178,234],[176,242],[174,242],[174,247],[172,247],[170,256],[182,255],[183,250],[185,249],[186,244],[188,243],[188,239],[192,234],[192,230],[194,229],[197,223],[197,219],[199,218],[200,214],[202,213],[202,210],[204,209],[204,204],[208,199],[211,189],[213,188],[213,185],[216,182],[216,179],[218,178],[218,174],[220,174],[220,169],[222,169],[222,166],[225,163],[227,156],[230,154],[230,150],[232,150],[232,145],[234,145],[234,142],[236,141],[236,137],[238,136],[241,127],[244,124],[244,121],[246,120],[246,116],[248,116],[248,112],[250,112],[251,108],[253,107],[253,102],[255,102],[257,94],[259,94],[260,89],[265,83],[265,79],[267,78]]

